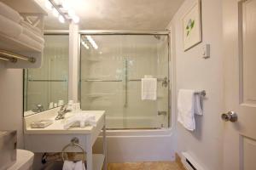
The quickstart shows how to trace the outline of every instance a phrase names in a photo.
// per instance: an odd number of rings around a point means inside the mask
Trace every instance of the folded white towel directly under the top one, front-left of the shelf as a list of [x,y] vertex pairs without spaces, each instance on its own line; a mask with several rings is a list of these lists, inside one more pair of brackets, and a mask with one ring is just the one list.
[[0,32],[8,37],[19,37],[22,33],[22,26],[0,14]]

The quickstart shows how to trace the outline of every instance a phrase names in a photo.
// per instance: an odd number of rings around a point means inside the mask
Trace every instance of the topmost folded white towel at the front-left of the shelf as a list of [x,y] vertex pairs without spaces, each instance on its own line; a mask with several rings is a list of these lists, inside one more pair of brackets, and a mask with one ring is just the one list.
[[[20,14],[15,11],[15,9],[10,8],[2,2],[0,2],[0,14],[16,23],[20,23],[20,20],[22,19]],[[1,26],[3,26],[3,24],[1,24]]]

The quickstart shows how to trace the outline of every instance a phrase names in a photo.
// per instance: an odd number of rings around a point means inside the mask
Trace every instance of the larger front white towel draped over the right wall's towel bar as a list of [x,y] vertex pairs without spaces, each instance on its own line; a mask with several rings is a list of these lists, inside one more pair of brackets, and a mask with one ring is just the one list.
[[195,90],[180,89],[177,96],[177,121],[190,131],[195,130]]

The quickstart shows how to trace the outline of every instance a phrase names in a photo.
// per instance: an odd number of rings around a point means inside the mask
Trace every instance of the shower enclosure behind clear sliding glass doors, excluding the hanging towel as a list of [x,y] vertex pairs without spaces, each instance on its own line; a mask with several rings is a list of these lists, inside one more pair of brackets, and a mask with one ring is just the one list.
[[[81,34],[82,110],[104,110],[108,129],[170,127],[169,36],[166,33]],[[142,100],[145,76],[157,99]]]

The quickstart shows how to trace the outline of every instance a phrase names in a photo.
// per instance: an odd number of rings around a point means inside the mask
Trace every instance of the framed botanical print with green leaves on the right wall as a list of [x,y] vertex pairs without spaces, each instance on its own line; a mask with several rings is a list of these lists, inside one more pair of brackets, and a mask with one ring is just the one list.
[[182,21],[183,49],[186,51],[201,42],[201,0],[195,0]]

